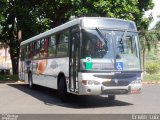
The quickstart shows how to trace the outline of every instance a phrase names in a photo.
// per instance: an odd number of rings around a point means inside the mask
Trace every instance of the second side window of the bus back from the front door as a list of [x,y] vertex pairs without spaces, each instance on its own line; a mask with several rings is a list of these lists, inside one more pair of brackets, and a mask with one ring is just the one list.
[[48,38],[48,57],[55,57],[56,54],[56,37],[52,35]]

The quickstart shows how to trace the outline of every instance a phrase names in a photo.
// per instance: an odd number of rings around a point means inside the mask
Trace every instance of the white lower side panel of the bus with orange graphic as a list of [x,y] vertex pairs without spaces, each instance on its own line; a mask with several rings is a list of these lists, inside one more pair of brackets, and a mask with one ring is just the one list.
[[[57,76],[60,72],[69,76],[69,58],[54,58],[33,60],[29,66],[24,65],[23,77],[20,79],[28,83],[28,71],[32,73],[34,84],[57,89]],[[29,67],[29,68],[27,68]],[[28,70],[27,70],[28,69]]]

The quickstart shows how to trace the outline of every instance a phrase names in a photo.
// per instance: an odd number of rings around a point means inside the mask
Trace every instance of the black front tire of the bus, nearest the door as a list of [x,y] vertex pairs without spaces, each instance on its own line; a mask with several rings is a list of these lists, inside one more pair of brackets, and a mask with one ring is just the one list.
[[67,85],[64,77],[60,77],[59,79],[58,95],[63,102],[67,101],[68,93],[67,93]]

